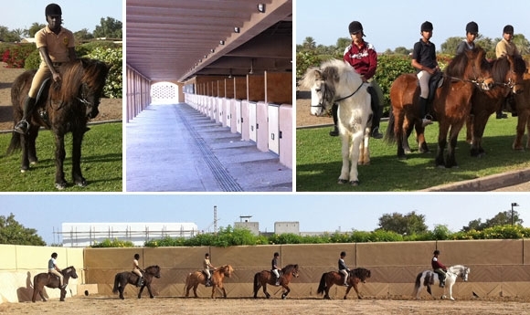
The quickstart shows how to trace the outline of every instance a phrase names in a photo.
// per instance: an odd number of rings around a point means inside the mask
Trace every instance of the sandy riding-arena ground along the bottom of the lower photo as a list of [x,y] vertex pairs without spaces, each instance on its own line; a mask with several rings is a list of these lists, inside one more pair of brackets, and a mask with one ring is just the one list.
[[[146,299],[145,299],[146,298]],[[2,303],[0,314],[526,314],[527,300],[476,299],[142,299],[103,296],[69,298],[65,302]]]

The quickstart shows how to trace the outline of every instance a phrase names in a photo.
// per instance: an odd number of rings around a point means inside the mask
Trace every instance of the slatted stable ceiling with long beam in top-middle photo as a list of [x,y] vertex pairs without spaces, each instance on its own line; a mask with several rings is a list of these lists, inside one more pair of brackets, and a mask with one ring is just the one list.
[[292,0],[127,0],[126,16],[127,65],[152,81],[292,71]]

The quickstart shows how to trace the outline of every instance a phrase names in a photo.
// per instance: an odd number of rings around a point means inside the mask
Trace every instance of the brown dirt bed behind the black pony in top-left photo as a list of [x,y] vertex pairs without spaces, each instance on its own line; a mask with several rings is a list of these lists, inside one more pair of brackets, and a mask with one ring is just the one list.
[[[11,109],[11,85],[25,69],[5,68],[0,62],[0,131],[13,129],[13,113]],[[122,120],[122,99],[101,99],[100,114],[91,121]]]

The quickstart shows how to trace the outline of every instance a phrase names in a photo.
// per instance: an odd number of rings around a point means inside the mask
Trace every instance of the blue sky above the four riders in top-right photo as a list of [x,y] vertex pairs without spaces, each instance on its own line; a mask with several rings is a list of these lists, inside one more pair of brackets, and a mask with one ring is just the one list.
[[366,41],[378,52],[412,48],[419,40],[419,26],[426,20],[434,26],[431,41],[438,50],[449,37],[465,37],[465,26],[470,21],[478,23],[483,37],[500,38],[504,26],[511,24],[515,34],[530,38],[528,9],[527,0],[298,0],[294,15],[296,44],[313,37],[317,45],[335,45],[337,38],[349,37],[348,25],[354,20],[363,24]]

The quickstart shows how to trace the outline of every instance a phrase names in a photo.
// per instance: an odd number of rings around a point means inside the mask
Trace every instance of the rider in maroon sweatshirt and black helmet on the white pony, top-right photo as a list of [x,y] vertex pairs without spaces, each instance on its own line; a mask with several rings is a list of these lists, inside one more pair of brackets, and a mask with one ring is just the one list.
[[[361,75],[363,82],[368,83],[368,92],[371,96],[371,108],[372,108],[372,132],[371,135],[375,139],[383,138],[383,134],[379,132],[379,121],[381,121],[382,107],[379,95],[383,95],[380,91],[381,88],[377,84],[374,75],[376,74],[377,68],[377,52],[376,48],[366,42],[363,37],[365,33],[363,31],[363,25],[358,21],[353,21],[348,26],[350,37],[352,37],[352,44],[345,48],[344,60],[350,64],[355,72]],[[334,130],[330,131],[331,136],[338,136],[339,131],[337,127],[338,104],[334,104],[332,107],[332,114],[334,118]]]

